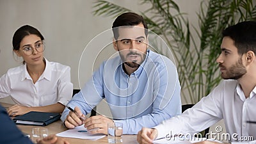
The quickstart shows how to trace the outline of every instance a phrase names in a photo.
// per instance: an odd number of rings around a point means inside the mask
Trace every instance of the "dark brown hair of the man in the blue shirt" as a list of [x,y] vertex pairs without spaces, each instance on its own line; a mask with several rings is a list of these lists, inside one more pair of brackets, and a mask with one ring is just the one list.
[[114,38],[117,40],[119,36],[118,27],[136,26],[140,23],[143,24],[145,28],[145,35],[147,36],[148,35],[147,22],[143,19],[141,15],[138,15],[132,12],[122,13],[122,15],[119,15],[118,17],[116,17],[115,21],[113,22],[112,31],[114,33]]

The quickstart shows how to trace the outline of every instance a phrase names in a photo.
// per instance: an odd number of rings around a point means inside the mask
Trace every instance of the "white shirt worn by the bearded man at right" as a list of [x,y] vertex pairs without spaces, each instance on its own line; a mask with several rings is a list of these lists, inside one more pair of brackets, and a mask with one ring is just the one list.
[[[195,134],[215,124],[223,118],[225,127],[230,134],[231,142],[243,143],[248,136],[256,143],[256,87],[247,99],[236,80],[224,80],[214,90],[204,97],[193,108],[184,111],[182,115],[165,120],[157,125],[158,137],[166,134]],[[232,134],[236,138],[232,138]],[[193,136],[193,135],[192,135]]]

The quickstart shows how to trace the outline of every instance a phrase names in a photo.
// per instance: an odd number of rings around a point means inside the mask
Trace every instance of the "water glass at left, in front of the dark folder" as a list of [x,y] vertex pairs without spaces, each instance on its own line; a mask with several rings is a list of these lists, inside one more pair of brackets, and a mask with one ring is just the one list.
[[32,129],[31,139],[34,143],[36,143],[37,139],[42,139],[48,136],[48,129],[45,127],[35,127]]

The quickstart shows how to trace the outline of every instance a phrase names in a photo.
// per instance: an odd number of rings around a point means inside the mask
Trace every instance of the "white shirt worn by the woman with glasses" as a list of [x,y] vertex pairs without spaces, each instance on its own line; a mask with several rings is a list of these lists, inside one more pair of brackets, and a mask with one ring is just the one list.
[[70,67],[45,59],[45,70],[36,83],[29,76],[27,65],[10,68],[0,78],[0,99],[11,96],[20,106],[66,105],[72,98]]

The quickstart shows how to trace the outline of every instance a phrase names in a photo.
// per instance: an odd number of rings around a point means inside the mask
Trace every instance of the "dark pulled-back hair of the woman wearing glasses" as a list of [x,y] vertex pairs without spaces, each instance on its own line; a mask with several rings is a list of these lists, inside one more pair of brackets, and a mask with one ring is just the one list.
[[20,49],[20,42],[27,35],[36,35],[40,37],[42,41],[44,40],[44,36],[36,28],[25,25],[17,29],[17,31],[15,31],[13,35],[13,38],[12,38],[13,50]]

